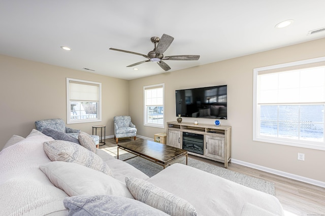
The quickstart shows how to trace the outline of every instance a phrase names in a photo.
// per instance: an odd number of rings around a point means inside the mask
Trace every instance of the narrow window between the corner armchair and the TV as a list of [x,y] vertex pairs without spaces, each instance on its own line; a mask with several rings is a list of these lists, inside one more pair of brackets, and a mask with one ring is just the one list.
[[144,125],[165,128],[165,84],[144,86]]

